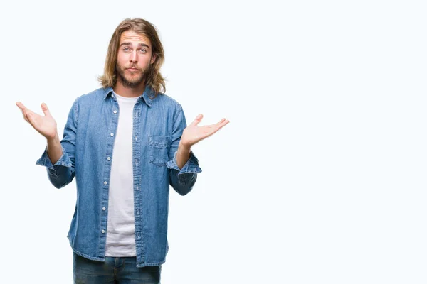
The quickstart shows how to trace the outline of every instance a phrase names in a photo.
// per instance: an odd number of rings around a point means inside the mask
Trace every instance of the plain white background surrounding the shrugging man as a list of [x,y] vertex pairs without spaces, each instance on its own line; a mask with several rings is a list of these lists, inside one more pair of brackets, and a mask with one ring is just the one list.
[[127,17],[157,27],[187,122],[231,121],[171,192],[162,283],[426,283],[424,3],[1,4],[1,283],[72,283],[75,180],[35,165],[46,141],[15,103],[46,102],[62,137]]

